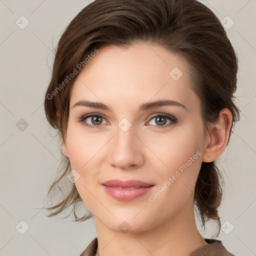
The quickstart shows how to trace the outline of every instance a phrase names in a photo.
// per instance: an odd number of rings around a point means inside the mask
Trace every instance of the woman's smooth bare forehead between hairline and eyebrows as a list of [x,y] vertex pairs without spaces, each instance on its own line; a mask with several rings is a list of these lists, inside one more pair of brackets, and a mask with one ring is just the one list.
[[189,86],[188,65],[178,54],[147,43],[106,45],[77,74],[70,105],[89,99],[125,108],[168,98],[196,107],[198,98]]

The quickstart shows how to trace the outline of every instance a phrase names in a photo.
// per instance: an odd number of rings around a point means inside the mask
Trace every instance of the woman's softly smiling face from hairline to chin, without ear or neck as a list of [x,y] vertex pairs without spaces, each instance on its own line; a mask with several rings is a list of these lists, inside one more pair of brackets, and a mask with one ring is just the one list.
[[[146,43],[98,50],[72,85],[62,145],[83,202],[116,231],[142,231],[190,214],[205,147],[186,62]],[[152,104],[162,100],[173,104]],[[150,186],[106,183],[112,179]]]

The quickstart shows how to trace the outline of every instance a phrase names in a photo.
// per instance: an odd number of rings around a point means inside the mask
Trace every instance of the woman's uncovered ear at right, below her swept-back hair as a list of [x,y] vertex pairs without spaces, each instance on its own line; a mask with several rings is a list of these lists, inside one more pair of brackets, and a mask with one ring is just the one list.
[[210,132],[202,154],[203,162],[216,160],[225,150],[231,123],[232,113],[228,108],[222,108],[218,120],[210,126]]

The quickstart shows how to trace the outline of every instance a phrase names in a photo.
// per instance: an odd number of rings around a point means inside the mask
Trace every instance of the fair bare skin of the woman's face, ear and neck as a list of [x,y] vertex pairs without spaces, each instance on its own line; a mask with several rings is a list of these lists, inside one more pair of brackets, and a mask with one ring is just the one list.
[[[182,71],[177,80],[169,75],[174,67]],[[232,116],[223,108],[218,121],[210,124],[210,132],[204,134],[199,98],[190,84],[187,63],[181,57],[142,42],[127,49],[99,48],[75,78],[61,149],[80,175],[75,186],[94,215],[100,256],[187,256],[207,244],[195,225],[194,187],[201,162],[211,162],[224,151]],[[140,104],[161,99],[178,101],[186,109],[165,105],[139,111]],[[79,100],[98,101],[112,111],[72,107]],[[89,113],[106,118],[78,122]],[[177,122],[159,128],[172,121],[166,118],[161,124],[161,119],[152,118],[156,113],[174,116]],[[123,118],[131,125],[125,131],[118,126]],[[100,128],[86,127],[85,122]],[[200,155],[189,167],[149,201],[197,151]],[[134,200],[121,201],[102,189],[103,181],[115,178],[154,186]],[[123,221],[128,223],[128,232],[119,228]]]

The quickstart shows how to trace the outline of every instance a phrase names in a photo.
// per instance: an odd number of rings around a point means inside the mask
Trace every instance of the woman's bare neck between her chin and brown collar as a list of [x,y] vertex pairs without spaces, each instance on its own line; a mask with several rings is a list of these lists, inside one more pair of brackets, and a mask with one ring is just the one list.
[[[186,206],[191,206],[186,205]],[[199,233],[192,211],[183,209],[172,218],[145,231],[122,233],[106,227],[98,218],[95,226],[99,256],[187,256],[206,245]]]

